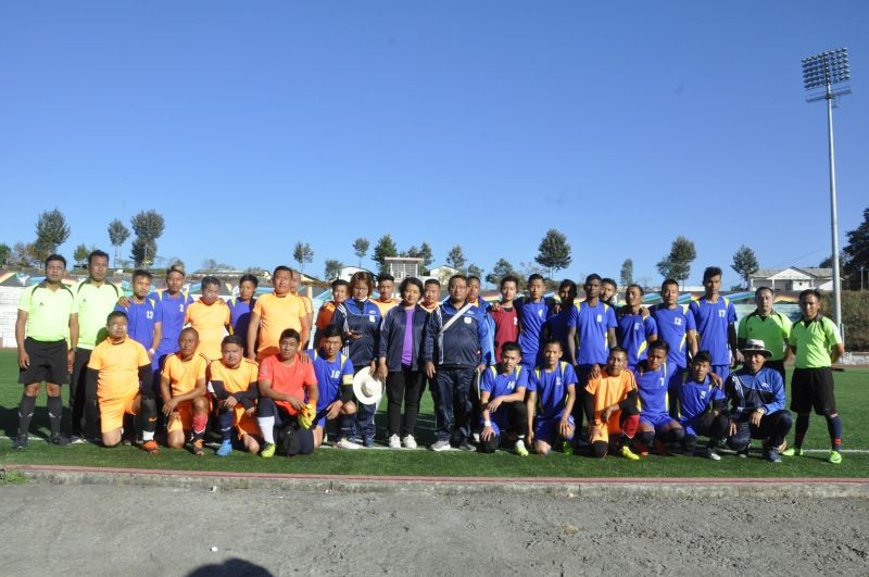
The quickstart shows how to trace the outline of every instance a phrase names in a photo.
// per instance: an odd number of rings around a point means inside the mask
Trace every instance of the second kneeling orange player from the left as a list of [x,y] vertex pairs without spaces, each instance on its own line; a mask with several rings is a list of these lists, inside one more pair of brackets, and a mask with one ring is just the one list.
[[209,360],[198,353],[199,334],[192,327],[181,330],[178,351],[166,356],[160,376],[163,413],[168,418],[167,442],[172,449],[184,447],[192,431],[193,454],[205,454],[205,426],[211,403],[206,394],[205,372]]

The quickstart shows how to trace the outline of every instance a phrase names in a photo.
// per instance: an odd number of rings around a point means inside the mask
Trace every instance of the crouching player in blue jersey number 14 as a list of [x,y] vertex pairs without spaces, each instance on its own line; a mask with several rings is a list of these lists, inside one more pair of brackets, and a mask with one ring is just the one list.
[[516,454],[528,456],[525,448],[528,432],[525,391],[529,372],[520,364],[521,358],[518,343],[505,342],[501,347],[501,362],[488,367],[480,378],[480,451],[483,453],[495,452],[502,436],[509,430],[516,435]]

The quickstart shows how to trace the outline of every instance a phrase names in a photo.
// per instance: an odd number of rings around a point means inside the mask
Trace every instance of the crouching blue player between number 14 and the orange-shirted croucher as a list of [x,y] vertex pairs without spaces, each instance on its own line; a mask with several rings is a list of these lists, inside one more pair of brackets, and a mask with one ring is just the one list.
[[559,439],[566,454],[574,452],[576,424],[570,413],[577,399],[577,374],[570,363],[562,361],[563,353],[558,339],[546,341],[543,364],[528,378],[529,442],[540,455],[549,454]]

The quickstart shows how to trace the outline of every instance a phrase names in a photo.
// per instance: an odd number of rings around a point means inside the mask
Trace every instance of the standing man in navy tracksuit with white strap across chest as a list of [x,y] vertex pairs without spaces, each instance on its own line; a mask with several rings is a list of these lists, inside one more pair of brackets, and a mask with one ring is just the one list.
[[484,369],[491,361],[489,328],[484,313],[467,302],[465,276],[451,277],[448,291],[450,298],[429,315],[423,350],[426,375],[433,379],[434,434],[438,440],[431,449],[445,451],[451,448],[450,435],[454,425],[458,448],[476,451],[470,442],[470,387],[474,372]]

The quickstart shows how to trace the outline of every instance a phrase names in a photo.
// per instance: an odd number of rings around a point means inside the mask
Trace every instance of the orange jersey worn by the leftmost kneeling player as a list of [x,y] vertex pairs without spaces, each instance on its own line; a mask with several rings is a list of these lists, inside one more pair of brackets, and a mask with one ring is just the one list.
[[139,367],[150,366],[148,352],[130,338],[113,344],[105,339],[90,354],[88,368],[98,372],[97,399],[124,399],[139,391]]

